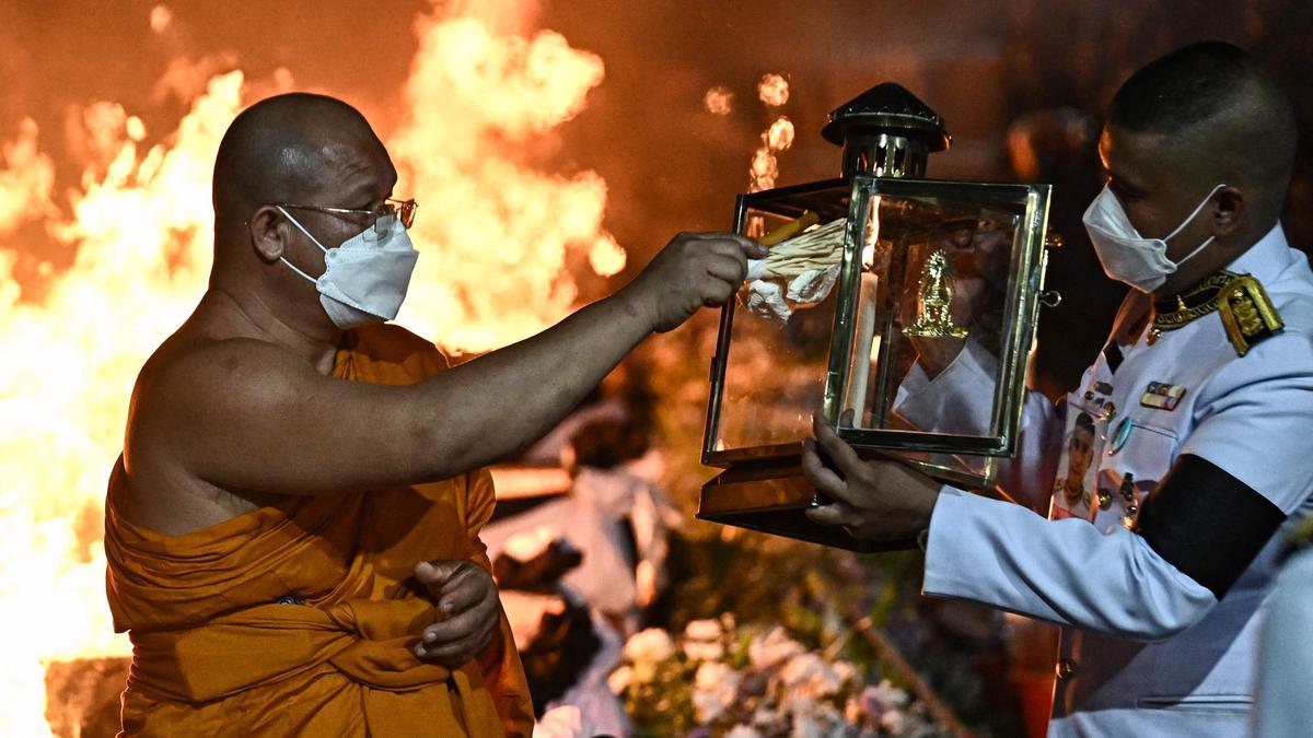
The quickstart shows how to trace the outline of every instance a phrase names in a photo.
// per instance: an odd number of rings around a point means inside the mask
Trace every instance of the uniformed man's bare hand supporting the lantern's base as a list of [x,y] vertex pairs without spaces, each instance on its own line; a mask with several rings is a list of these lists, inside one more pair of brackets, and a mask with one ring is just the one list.
[[[819,415],[802,449],[802,474],[832,500],[806,511],[864,541],[906,541],[930,527],[939,482],[894,461],[864,461]],[[827,466],[825,460],[831,462]]]

